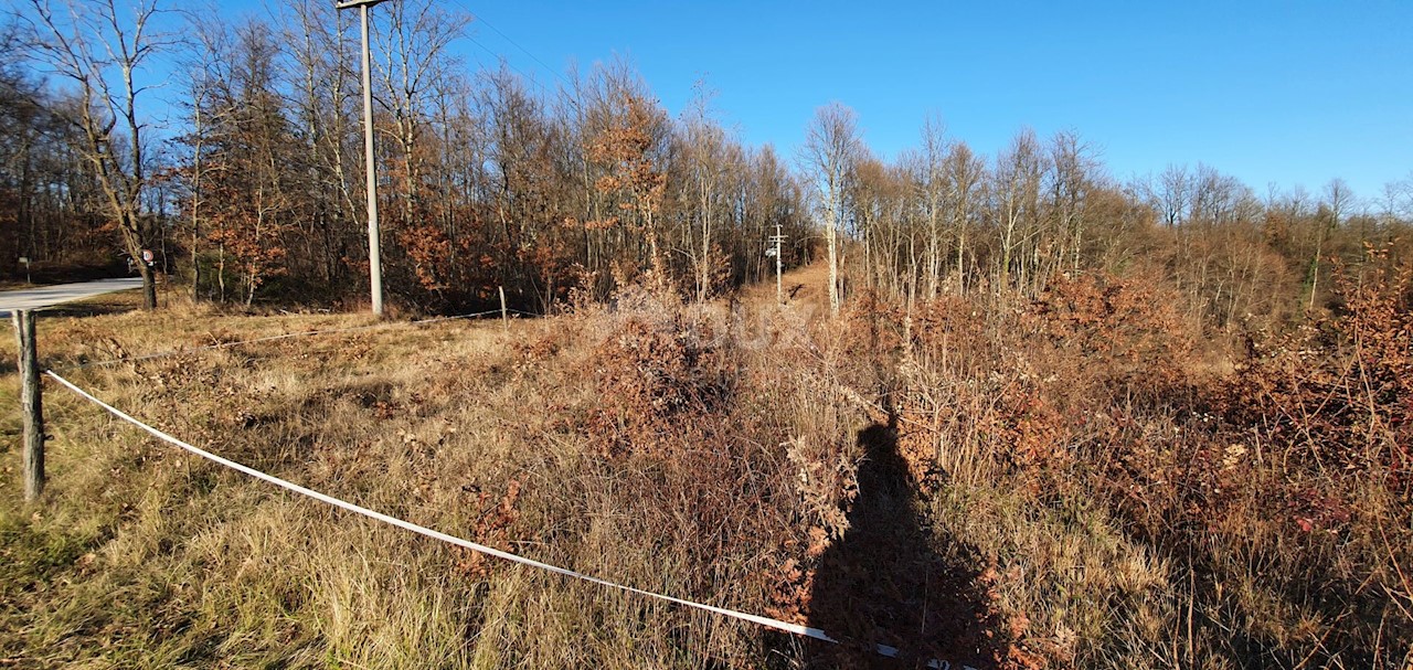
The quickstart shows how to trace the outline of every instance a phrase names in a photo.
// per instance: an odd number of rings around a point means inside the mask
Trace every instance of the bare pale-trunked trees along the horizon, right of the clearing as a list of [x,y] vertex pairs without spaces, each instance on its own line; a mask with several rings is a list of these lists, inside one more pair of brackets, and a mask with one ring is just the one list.
[[839,291],[1007,307],[1057,276],[1142,273],[1178,288],[1208,327],[1279,327],[1327,305],[1334,266],[1413,264],[1413,175],[1375,199],[1338,178],[1318,194],[1258,196],[1204,164],[1115,180],[1068,131],[1022,130],[988,158],[928,120],[920,148],[885,163],[856,127],[848,107],[822,107],[801,161],[820,219],[848,242]]

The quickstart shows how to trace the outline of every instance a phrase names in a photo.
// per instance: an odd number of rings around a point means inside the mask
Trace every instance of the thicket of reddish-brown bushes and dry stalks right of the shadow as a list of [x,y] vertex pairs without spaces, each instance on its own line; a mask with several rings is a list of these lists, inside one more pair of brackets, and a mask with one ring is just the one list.
[[856,302],[937,530],[1005,575],[1013,663],[1409,663],[1409,270],[1368,257],[1328,317],[1225,365],[1150,277],[1057,278],[1007,312]]

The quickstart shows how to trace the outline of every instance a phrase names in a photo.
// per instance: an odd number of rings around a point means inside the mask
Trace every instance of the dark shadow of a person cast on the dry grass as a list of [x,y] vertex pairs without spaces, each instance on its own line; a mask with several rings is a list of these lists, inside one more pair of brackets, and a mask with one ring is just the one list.
[[[841,645],[805,645],[808,667],[995,667],[999,632],[965,547],[937,537],[918,512],[917,482],[897,449],[897,433],[875,424],[865,449],[849,530],[820,558],[810,625]],[[880,656],[875,645],[896,647]]]

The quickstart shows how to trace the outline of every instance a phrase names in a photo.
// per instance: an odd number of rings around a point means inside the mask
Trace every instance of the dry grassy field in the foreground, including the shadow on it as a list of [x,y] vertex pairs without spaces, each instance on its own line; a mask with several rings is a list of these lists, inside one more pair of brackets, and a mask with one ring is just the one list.
[[[1366,486],[1344,517],[1272,512],[1291,454],[1212,457],[1241,447],[1202,427],[1221,413],[1174,400],[1222,365],[1133,329],[1094,346],[1075,327],[1094,319],[1054,312],[1009,331],[944,307],[827,319],[820,286],[787,277],[784,310],[773,287],[706,307],[626,291],[509,328],[124,295],[42,318],[40,342],[119,409],[295,483],[846,645],[380,526],[55,384],[49,486],[25,506],[7,363],[0,666],[1407,667],[1406,500]],[[339,328],[362,329],[62,372]]]

